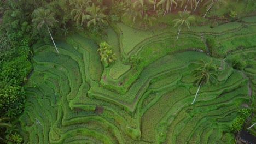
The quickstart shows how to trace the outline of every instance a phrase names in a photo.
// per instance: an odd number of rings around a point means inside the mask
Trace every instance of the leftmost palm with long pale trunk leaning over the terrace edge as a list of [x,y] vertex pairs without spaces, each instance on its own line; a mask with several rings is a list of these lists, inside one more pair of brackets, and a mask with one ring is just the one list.
[[[54,19],[54,13],[51,13],[51,11],[49,9],[42,9],[42,8],[38,8],[36,10],[34,10],[33,12],[33,17],[34,19],[32,20],[32,22],[36,22],[37,24],[37,29],[39,30],[44,24],[46,25],[48,32],[51,36],[51,32],[49,29],[49,26],[53,26],[54,22],[58,22],[57,20]],[[51,40],[53,40],[53,37],[51,36]],[[54,40],[53,40],[54,43]],[[60,53],[54,43],[55,49],[58,53]]]

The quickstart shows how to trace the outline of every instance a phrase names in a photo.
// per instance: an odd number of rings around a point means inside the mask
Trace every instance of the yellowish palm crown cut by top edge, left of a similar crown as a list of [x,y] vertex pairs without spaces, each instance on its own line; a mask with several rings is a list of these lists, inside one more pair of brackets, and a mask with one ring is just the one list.
[[74,9],[71,11],[71,15],[74,16],[74,21],[77,25],[83,26],[83,23],[88,19],[88,11],[91,0],[73,0],[70,5],[73,5]]

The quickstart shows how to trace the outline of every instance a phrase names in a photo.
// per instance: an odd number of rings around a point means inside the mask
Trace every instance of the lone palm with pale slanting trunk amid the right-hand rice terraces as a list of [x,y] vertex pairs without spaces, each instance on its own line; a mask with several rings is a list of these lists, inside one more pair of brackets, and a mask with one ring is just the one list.
[[207,63],[201,61],[201,67],[193,70],[192,74],[196,77],[194,83],[197,84],[198,89],[191,105],[195,103],[197,93],[202,85],[213,82],[213,80],[217,82],[217,66],[212,64],[212,59]]

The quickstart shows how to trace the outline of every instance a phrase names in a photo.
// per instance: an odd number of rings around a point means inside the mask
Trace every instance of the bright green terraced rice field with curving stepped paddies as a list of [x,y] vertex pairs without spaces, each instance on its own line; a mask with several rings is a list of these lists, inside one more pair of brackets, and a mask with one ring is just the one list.
[[[230,126],[237,111],[255,101],[255,65],[238,71],[223,59],[213,59],[221,67],[220,82],[203,86],[190,105],[197,90],[190,72],[200,59],[210,59],[191,51],[206,51],[201,32],[184,31],[175,41],[174,32],[146,31],[129,42],[126,33],[135,37],[139,31],[120,23],[112,27],[115,31],[109,28],[106,40],[118,59],[108,68],[100,62],[96,43],[83,34],[56,41],[60,55],[51,45],[34,45],[26,109],[19,118],[25,143],[234,142]],[[237,27],[204,35],[216,45],[246,38],[243,52],[234,45],[224,55],[255,54],[255,23]],[[248,27],[251,35],[237,35]],[[132,58],[139,58],[136,68]]]

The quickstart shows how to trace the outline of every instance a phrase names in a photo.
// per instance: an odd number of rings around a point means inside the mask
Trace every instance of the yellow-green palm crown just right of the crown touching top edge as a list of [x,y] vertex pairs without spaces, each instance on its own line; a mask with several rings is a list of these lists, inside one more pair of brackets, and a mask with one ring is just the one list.
[[88,16],[89,21],[87,22],[87,27],[90,27],[92,23],[96,25],[97,22],[106,22],[104,19],[107,16],[102,12],[103,10],[104,9],[100,8],[100,6],[96,7],[94,3],[90,8],[88,8],[90,15]]

